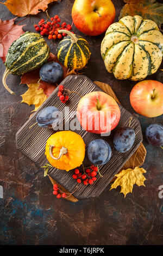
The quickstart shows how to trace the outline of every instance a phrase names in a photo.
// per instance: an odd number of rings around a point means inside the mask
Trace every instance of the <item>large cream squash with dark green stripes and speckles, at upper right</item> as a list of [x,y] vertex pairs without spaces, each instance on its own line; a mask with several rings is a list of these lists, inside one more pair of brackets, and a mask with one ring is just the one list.
[[155,73],[162,60],[163,35],[152,20],[125,16],[105,33],[101,54],[117,79],[138,81]]

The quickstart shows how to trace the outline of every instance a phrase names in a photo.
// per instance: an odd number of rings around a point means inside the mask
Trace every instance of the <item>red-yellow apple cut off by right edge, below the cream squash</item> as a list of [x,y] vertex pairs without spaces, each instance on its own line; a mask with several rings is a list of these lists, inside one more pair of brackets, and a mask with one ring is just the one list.
[[130,93],[130,103],[138,114],[158,117],[163,114],[163,84],[154,80],[136,83]]

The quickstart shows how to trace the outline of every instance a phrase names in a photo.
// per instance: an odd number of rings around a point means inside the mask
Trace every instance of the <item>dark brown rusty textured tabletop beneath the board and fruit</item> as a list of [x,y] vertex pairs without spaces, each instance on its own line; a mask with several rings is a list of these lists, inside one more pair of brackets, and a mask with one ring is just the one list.
[[[5,1],[3,1],[5,2]],[[48,5],[49,16],[59,14],[62,22],[72,23],[73,0]],[[116,7],[116,21],[124,3],[112,1]],[[159,1],[161,2],[161,1]],[[12,19],[4,5],[0,5],[0,18]],[[45,13],[30,16],[20,23],[24,31],[34,31],[33,25]],[[23,18],[18,18],[16,23]],[[73,31],[80,33],[74,26]],[[92,81],[110,84],[124,107],[134,113],[129,102],[129,93],[135,82],[118,81],[105,70],[100,54],[104,35],[83,35],[91,47],[91,59],[85,75]],[[47,39],[47,38],[46,38]],[[55,54],[57,42],[46,40]],[[1,77],[5,66],[0,60]],[[148,79],[156,80],[160,71]],[[158,197],[158,187],[163,184],[162,150],[153,148],[145,138],[146,126],[163,124],[158,118],[142,118],[141,122],[147,157],[143,168],[147,170],[146,187],[134,185],[133,193],[124,199],[120,187],[110,186],[98,198],[71,203],[57,199],[52,194],[52,184],[43,178],[41,170],[16,149],[15,134],[28,120],[34,106],[21,102],[21,94],[27,86],[20,85],[20,77],[10,75],[9,87],[16,95],[0,88],[0,185],[4,198],[0,199],[0,244],[1,245],[162,245],[163,244],[163,199]]]

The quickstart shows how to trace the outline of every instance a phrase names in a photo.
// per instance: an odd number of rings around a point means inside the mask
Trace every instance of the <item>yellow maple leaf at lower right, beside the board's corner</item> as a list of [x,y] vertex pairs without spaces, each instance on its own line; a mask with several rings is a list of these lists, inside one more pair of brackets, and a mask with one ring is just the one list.
[[123,193],[124,197],[126,197],[128,193],[132,193],[134,184],[137,186],[145,186],[144,181],[146,178],[143,176],[143,173],[146,173],[146,170],[140,167],[122,170],[120,173],[115,175],[117,179],[111,185],[110,190],[112,190],[112,188],[116,188],[117,186],[121,186],[120,193]]

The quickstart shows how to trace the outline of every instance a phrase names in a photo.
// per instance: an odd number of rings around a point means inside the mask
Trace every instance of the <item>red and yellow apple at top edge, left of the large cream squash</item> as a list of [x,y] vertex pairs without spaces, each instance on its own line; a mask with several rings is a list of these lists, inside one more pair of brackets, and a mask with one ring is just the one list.
[[72,19],[82,33],[100,35],[114,22],[115,7],[110,0],[76,0]]

